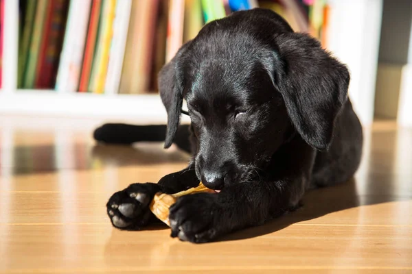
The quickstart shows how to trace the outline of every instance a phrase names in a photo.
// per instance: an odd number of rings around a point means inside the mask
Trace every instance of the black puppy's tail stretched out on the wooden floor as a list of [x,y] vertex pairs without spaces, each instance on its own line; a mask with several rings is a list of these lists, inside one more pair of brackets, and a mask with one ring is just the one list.
[[[180,125],[174,143],[184,151],[190,152],[189,125]],[[128,125],[107,123],[93,132],[98,142],[130,145],[133,142],[164,142],[166,125]]]

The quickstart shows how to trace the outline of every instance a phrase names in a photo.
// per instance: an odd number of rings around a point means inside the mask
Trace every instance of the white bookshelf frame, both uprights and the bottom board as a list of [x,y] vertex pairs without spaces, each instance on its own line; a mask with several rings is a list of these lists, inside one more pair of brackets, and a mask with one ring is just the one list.
[[[17,88],[19,1],[5,1],[0,114],[93,116],[164,123],[157,94],[95,95]],[[352,73],[350,97],[364,125],[373,121],[382,0],[330,0],[328,47]],[[350,16],[348,16],[350,14]],[[365,32],[365,29],[368,29]],[[358,42],[354,42],[357,40]],[[183,117],[183,121],[187,121]]]

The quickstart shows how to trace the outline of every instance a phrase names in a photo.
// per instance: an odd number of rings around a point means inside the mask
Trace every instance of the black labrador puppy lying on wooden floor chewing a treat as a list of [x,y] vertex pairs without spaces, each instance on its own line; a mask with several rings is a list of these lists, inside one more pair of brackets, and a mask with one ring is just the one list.
[[156,192],[179,192],[201,180],[220,192],[181,197],[170,208],[170,223],[172,237],[209,242],[294,210],[309,188],[347,181],[360,163],[363,138],[349,82],[343,64],[275,12],[235,12],[208,23],[160,72],[166,134],[161,126],[113,124],[95,133],[98,140],[111,135],[111,142],[149,134],[165,138],[168,148],[176,132],[182,135],[183,99],[192,120],[189,166],[158,184],[116,192],[107,203],[113,225],[148,225]]

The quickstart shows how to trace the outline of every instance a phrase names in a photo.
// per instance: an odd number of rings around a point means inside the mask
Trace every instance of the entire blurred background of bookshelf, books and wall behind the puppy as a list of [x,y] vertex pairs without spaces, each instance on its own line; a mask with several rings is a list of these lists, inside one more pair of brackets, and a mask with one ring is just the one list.
[[0,7],[0,114],[163,123],[163,64],[205,23],[261,7],[347,64],[365,126],[374,119],[412,126],[410,0],[0,0]]

